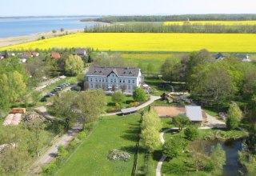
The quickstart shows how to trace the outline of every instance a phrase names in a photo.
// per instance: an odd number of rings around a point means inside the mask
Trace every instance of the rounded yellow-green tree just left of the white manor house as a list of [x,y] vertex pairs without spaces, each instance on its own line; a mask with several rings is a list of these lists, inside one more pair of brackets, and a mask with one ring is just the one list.
[[83,67],[84,63],[82,58],[80,58],[78,55],[70,55],[70,57],[66,59],[65,71],[71,76],[80,74],[83,70]]

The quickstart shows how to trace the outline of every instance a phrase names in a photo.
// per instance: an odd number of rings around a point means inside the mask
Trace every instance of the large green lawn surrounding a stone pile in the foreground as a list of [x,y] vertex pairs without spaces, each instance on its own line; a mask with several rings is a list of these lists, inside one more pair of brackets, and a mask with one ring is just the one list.
[[[57,175],[130,175],[138,140],[139,115],[104,117],[62,165]],[[109,161],[110,150],[124,150],[130,161]]]

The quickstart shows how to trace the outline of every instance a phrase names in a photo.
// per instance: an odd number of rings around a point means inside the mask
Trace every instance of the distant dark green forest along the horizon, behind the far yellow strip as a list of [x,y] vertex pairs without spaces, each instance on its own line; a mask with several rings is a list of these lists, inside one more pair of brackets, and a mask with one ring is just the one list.
[[182,14],[152,16],[110,16],[86,18],[82,22],[166,22],[166,21],[246,21],[256,20],[256,14]]

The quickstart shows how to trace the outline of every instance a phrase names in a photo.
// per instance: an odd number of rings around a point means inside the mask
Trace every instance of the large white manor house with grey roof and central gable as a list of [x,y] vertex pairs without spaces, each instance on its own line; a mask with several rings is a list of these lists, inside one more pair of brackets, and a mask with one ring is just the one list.
[[89,89],[124,90],[131,93],[143,81],[139,68],[90,66],[86,74]]

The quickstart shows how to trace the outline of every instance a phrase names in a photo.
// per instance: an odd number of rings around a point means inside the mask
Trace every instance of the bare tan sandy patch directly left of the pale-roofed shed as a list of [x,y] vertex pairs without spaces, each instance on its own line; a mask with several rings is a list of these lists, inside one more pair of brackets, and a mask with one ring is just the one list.
[[175,106],[154,106],[153,107],[156,113],[159,117],[171,117],[178,114],[185,114],[185,108],[184,107],[175,107]]

